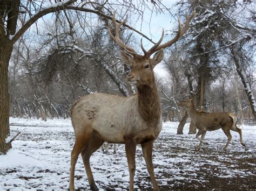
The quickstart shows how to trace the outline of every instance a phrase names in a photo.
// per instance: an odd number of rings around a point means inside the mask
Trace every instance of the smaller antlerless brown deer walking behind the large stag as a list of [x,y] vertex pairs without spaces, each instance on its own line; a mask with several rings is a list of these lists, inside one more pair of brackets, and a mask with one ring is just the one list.
[[[200,141],[200,144],[197,147],[198,150],[200,150],[202,143],[207,144],[204,142],[206,131],[214,131],[220,128],[228,138],[227,144],[224,147],[225,151],[227,150],[232,138],[230,130],[239,133],[240,142],[242,146],[245,146],[245,143],[242,140],[242,130],[237,128],[237,117],[235,117],[234,114],[228,112],[197,112],[191,96],[187,96],[183,101],[179,102],[178,105],[186,108],[188,116],[190,116],[194,125],[198,129],[198,133],[196,135],[196,138]],[[200,135],[201,139],[199,138]]]

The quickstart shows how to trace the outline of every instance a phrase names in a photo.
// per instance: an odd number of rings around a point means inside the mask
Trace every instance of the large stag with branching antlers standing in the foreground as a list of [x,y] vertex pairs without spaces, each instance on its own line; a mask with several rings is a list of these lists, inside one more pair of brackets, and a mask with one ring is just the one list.
[[[176,43],[187,31],[194,12],[191,16],[186,15],[183,27],[178,18],[177,34],[167,43],[161,44],[164,30],[160,40],[149,51],[143,47],[141,40],[140,46],[144,55],[136,53],[120,39],[119,29],[125,20],[117,23],[115,15],[116,12],[112,16],[114,34],[111,32],[110,22],[107,31],[110,38],[120,47],[120,59],[131,68],[126,79],[136,86],[137,94],[124,97],[93,93],[85,95],[72,105],[71,122],[75,131],[75,144],[71,152],[69,190],[75,190],[75,165],[79,154],[82,156],[90,188],[98,190],[90,167],[90,157],[104,142],[125,144],[130,178],[129,190],[134,190],[136,145],[140,144],[153,189],[159,190],[154,176],[152,148],[154,140],[161,131],[162,122],[160,98],[153,68],[163,60],[164,48]],[[150,58],[153,53],[155,53],[153,58]]]

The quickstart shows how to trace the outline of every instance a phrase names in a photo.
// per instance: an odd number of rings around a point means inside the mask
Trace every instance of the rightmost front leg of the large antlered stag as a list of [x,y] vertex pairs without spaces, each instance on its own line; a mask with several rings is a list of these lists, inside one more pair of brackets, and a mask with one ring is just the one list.
[[147,166],[147,172],[150,174],[150,179],[153,185],[154,190],[160,190],[156,181],[156,177],[154,176],[154,167],[152,162],[152,149],[153,149],[153,141],[142,144],[142,152]]

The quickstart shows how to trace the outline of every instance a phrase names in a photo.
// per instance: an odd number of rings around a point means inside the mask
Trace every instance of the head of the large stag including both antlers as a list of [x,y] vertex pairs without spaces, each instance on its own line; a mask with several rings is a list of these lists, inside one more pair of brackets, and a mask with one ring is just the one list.
[[[114,35],[111,32],[110,22],[108,25],[108,32],[111,37],[122,49],[120,51],[120,58],[121,60],[131,67],[131,72],[126,76],[127,80],[132,83],[136,84],[136,86],[146,85],[151,86],[151,84],[154,82],[154,67],[163,60],[164,58],[164,48],[171,46],[172,44],[176,43],[176,41],[183,36],[183,34],[187,31],[188,25],[190,23],[190,20],[193,18],[194,12],[191,16],[186,15],[186,23],[184,27],[181,27],[180,18],[178,17],[179,22],[179,29],[176,34],[176,36],[168,41],[167,43],[164,43],[161,45],[161,41],[164,38],[164,30],[162,32],[160,40],[154,44],[149,51],[146,51],[143,47],[142,40],[140,41],[140,46],[142,48],[142,51],[144,52],[144,55],[137,54],[133,48],[125,45],[123,41],[120,39],[119,36],[119,28],[121,25],[125,23],[125,20],[123,22],[120,22],[119,24],[116,22],[116,12],[114,12],[112,17],[112,23],[114,27]],[[150,56],[155,53],[153,58],[150,58]]]

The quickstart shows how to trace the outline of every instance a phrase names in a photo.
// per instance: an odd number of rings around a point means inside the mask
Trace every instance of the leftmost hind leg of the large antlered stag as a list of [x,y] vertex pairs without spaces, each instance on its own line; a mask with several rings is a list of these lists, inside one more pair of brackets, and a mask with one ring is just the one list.
[[76,138],[75,145],[71,152],[71,165],[70,165],[70,180],[69,180],[69,190],[75,190],[74,176],[75,176],[75,166],[79,154],[82,152],[83,148],[89,142],[90,136]]

